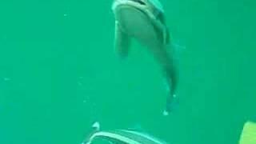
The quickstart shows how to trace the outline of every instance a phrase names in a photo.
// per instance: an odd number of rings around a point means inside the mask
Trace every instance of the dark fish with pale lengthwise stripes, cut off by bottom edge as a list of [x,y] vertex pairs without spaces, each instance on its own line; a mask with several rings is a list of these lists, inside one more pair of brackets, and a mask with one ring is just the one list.
[[115,144],[168,144],[149,134],[136,130],[100,130],[100,125],[95,122],[94,131],[82,144],[91,144],[96,139],[106,140]]

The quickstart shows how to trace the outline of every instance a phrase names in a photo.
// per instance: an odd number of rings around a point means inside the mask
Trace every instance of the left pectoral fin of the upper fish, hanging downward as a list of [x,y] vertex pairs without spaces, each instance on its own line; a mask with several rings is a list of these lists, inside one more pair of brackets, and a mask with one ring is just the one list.
[[121,58],[126,58],[130,49],[130,36],[115,22],[114,49]]

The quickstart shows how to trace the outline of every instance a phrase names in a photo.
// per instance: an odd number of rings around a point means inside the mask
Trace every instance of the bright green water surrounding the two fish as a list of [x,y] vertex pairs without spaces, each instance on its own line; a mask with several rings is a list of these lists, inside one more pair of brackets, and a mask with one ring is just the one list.
[[102,129],[141,125],[176,144],[233,144],[255,120],[256,2],[161,1],[178,53],[179,105],[134,43],[114,54],[111,1],[0,2],[0,143],[80,143]]

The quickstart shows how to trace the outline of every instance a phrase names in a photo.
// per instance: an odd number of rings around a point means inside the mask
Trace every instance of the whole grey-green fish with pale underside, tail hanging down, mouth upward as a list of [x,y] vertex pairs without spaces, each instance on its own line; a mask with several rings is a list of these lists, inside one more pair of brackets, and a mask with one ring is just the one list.
[[114,47],[118,55],[121,58],[128,55],[131,38],[134,38],[148,47],[161,66],[170,92],[164,112],[168,114],[175,97],[178,74],[174,50],[168,50],[170,34],[161,3],[158,0],[114,0],[112,10],[115,18]]

